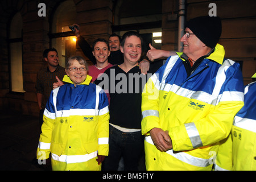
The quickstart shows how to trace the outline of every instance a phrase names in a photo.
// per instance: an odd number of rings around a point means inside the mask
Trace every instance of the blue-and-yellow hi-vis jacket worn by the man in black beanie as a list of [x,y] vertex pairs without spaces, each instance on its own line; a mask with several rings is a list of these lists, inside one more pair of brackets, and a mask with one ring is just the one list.
[[[243,106],[239,64],[214,52],[187,77],[182,53],[171,56],[142,93],[142,134],[147,170],[210,170],[219,142],[228,137],[234,115]],[[149,131],[168,130],[172,150],[160,152]]]

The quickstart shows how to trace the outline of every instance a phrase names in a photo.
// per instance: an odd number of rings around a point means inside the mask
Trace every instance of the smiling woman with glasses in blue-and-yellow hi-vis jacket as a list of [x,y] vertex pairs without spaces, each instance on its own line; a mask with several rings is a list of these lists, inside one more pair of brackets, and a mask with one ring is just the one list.
[[109,151],[108,98],[91,84],[86,61],[69,57],[63,81],[44,111],[37,158],[51,153],[53,170],[100,170]]

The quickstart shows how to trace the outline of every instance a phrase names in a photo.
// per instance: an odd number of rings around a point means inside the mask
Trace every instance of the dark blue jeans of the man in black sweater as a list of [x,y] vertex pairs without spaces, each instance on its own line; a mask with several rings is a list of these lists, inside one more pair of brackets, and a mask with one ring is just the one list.
[[125,170],[137,171],[139,160],[144,158],[144,136],[141,131],[123,133],[109,125],[109,155],[102,163],[102,171],[117,171],[121,156]]

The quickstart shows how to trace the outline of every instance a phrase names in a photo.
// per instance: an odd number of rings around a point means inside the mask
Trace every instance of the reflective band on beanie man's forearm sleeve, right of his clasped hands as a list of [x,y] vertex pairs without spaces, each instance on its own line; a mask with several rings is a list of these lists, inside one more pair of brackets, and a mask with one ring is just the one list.
[[200,138],[199,132],[196,129],[195,123],[185,123],[185,128],[188,133],[188,137],[191,140],[193,148],[203,146],[202,140]]

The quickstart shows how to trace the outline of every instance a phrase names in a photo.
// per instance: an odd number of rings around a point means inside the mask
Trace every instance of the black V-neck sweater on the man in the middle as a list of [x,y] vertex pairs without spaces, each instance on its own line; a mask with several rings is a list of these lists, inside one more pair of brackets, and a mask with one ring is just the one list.
[[147,75],[141,74],[138,66],[124,72],[119,65],[105,71],[95,84],[109,90],[109,122],[128,129],[141,129],[141,94],[148,78],[160,67],[151,67]]

